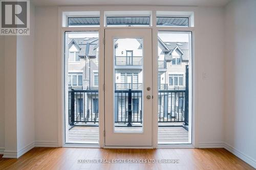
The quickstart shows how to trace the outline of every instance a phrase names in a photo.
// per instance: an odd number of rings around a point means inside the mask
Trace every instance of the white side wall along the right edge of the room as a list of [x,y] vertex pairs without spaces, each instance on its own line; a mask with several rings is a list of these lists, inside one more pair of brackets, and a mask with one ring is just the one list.
[[232,1],[225,25],[225,142],[256,168],[256,1]]

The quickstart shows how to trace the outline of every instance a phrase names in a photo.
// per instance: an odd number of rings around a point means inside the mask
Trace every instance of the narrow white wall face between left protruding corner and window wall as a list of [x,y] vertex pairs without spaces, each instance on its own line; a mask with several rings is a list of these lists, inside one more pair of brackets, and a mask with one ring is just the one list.
[[30,35],[17,36],[17,151],[33,148],[34,128],[34,6],[30,5]]

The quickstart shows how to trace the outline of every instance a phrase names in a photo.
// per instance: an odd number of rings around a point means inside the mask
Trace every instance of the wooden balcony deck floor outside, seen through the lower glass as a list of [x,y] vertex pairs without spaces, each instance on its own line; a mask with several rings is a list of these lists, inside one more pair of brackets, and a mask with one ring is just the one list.
[[[97,143],[99,138],[97,126],[75,126],[69,130],[70,143]],[[118,127],[118,130],[127,127]],[[134,131],[139,127],[131,127]],[[158,127],[158,142],[188,142],[188,131],[183,127]]]

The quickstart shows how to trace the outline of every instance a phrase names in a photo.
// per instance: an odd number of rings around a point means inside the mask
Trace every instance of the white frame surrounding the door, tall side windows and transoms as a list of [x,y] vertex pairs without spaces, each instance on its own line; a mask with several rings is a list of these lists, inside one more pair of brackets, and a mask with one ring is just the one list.
[[[158,145],[158,120],[157,120],[157,113],[158,113],[158,104],[157,98],[153,99],[153,148],[194,148],[199,146],[198,135],[196,126],[196,110],[197,110],[197,101],[196,101],[196,94],[198,93],[198,89],[196,88],[196,81],[199,79],[196,77],[196,67],[194,63],[194,56],[196,52],[194,49],[196,48],[197,42],[195,41],[195,36],[198,34],[196,27],[190,26],[187,28],[184,27],[157,27],[156,26],[156,11],[177,11],[177,13],[183,15],[191,15],[193,16],[191,19],[194,21],[194,15],[197,16],[198,9],[197,7],[174,7],[174,6],[120,6],[118,8],[119,11],[151,11],[151,20],[152,26],[147,27],[153,30],[152,32],[152,41],[153,41],[153,56],[157,56],[157,33],[158,31],[189,31],[192,33],[192,45],[193,45],[193,52],[192,52],[192,63],[191,63],[191,113],[192,113],[192,120],[191,124],[193,126],[192,129],[192,143],[191,144],[169,144],[169,145]],[[99,11],[100,12],[100,27],[67,27],[65,26],[66,16],[63,15],[63,12],[70,12],[70,11]],[[103,82],[104,82],[104,29],[109,28],[116,28],[116,29],[127,29],[127,27],[106,27],[104,26],[104,12],[105,11],[116,11],[116,6],[67,6],[67,7],[58,7],[58,44],[57,44],[57,112],[58,112],[58,147],[104,147],[104,92],[103,92]],[[179,15],[178,14],[178,15]],[[176,14],[175,14],[176,15]],[[198,20],[195,20],[195,25],[198,25]],[[129,27],[129,29],[145,29],[145,27]],[[65,144],[65,84],[64,84],[64,74],[65,68],[63,67],[63,40],[64,40],[64,33],[65,31],[98,31],[99,32],[99,144],[98,145],[85,145],[85,144]],[[158,63],[157,58],[153,58],[153,87],[157,87],[157,79],[158,79],[158,72],[154,69],[157,69]],[[158,89],[153,88],[153,96],[157,96]],[[140,147],[141,148],[141,147]]]

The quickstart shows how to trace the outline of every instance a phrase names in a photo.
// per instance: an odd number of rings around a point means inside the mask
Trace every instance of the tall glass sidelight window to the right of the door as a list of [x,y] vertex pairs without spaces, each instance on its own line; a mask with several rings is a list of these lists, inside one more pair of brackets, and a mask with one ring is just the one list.
[[191,143],[191,40],[191,32],[158,32],[158,144]]

